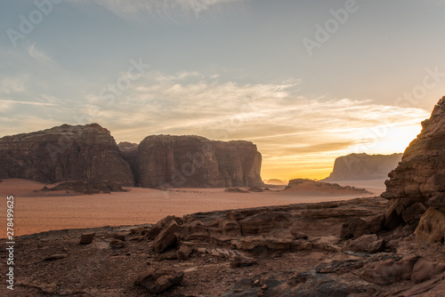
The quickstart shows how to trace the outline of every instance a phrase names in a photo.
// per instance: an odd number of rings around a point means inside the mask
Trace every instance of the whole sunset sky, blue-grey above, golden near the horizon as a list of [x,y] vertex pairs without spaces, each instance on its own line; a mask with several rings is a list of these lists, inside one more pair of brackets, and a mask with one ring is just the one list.
[[2,0],[0,137],[250,140],[263,179],[403,152],[445,94],[445,0]]

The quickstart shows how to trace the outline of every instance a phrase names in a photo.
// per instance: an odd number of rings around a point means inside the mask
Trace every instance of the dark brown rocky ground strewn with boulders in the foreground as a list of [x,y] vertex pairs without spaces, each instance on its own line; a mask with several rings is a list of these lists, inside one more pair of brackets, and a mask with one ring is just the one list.
[[444,245],[417,242],[415,226],[384,230],[386,207],[370,197],[17,237],[15,289],[0,293],[443,296]]

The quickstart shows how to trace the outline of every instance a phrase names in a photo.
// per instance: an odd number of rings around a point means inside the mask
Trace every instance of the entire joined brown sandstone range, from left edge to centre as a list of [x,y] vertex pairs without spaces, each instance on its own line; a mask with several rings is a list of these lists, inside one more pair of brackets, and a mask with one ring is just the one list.
[[0,179],[112,181],[142,187],[257,187],[261,154],[248,141],[149,136],[116,141],[99,124],[63,124],[0,139]]

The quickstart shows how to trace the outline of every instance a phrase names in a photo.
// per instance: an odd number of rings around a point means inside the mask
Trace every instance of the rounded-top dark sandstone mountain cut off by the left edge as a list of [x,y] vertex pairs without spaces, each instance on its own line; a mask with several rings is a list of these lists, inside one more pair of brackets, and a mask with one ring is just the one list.
[[133,186],[116,141],[99,124],[62,124],[0,139],[0,178],[42,182],[101,180]]

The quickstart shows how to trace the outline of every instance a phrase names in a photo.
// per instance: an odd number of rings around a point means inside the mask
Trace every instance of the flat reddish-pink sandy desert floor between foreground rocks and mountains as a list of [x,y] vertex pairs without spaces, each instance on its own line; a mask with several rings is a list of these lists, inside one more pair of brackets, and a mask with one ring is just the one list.
[[[384,191],[384,181],[341,181],[343,186],[365,188],[375,196]],[[128,192],[74,195],[38,191],[45,186],[36,181],[10,179],[0,182],[0,220],[6,225],[6,197],[14,196],[14,236],[53,229],[83,229],[102,226],[154,223],[166,215],[182,216],[215,210],[267,205],[289,205],[346,200],[355,195],[298,195],[280,188],[262,193],[228,193],[224,189],[129,188]],[[51,185],[53,186],[53,185]],[[369,195],[365,195],[368,197]],[[5,228],[0,238],[6,235]]]

